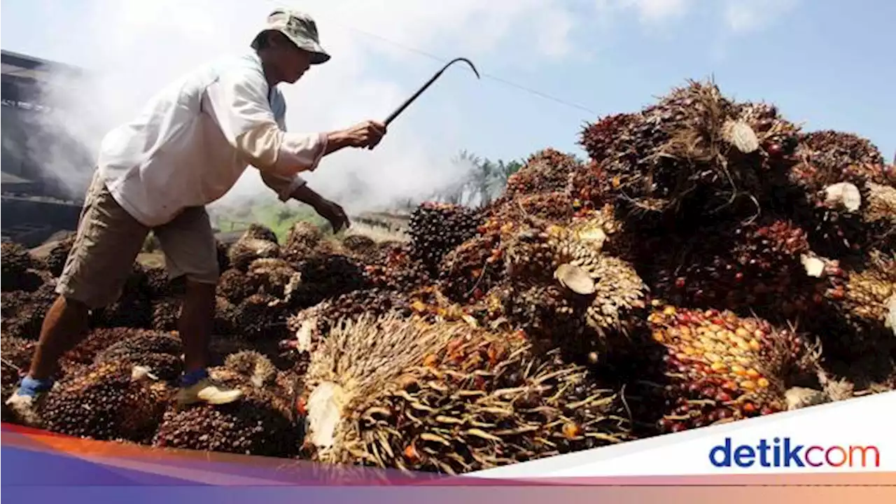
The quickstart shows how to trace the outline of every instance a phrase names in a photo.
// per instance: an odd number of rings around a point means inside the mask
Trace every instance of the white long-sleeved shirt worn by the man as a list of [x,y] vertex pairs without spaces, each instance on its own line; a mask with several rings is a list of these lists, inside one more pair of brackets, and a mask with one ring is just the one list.
[[314,170],[324,134],[286,131],[286,102],[254,53],[194,70],[106,135],[98,169],[118,204],[149,227],[224,196],[248,166],[281,201]]

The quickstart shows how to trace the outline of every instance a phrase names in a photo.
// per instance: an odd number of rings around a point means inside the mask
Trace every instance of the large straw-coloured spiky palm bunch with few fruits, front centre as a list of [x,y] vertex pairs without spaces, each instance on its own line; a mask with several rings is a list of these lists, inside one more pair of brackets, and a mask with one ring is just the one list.
[[627,439],[621,401],[585,369],[465,323],[343,324],[305,386],[305,451],[330,464],[461,474]]

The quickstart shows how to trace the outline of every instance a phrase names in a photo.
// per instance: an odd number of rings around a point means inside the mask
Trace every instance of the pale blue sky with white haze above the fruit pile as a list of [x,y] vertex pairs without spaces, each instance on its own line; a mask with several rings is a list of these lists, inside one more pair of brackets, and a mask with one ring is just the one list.
[[[355,210],[451,183],[461,150],[583,155],[584,124],[687,79],[773,102],[809,131],[862,135],[888,160],[896,152],[896,3],[883,0],[0,0],[0,48],[89,70],[91,85],[60,95],[70,112],[54,120],[95,149],[160,86],[248,50],[275,6],[314,16],[332,54],[282,88],[293,131],[383,119],[453,57],[483,74],[452,66],[374,151],[337,152],[308,174],[328,197],[363,180],[364,196],[340,201]],[[260,190],[250,169],[231,197]]]

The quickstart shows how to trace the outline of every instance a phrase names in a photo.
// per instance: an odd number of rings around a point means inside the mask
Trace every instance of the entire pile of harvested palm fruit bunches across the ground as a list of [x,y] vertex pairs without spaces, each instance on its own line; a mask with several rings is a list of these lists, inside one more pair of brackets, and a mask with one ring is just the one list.
[[[896,176],[873,144],[695,82],[581,144],[482,208],[419,205],[406,241],[299,222],[221,245],[211,374],[236,404],[175,407],[184,291],[135,264],[32,420],[459,474],[896,383]],[[0,244],[4,393],[71,245]]]

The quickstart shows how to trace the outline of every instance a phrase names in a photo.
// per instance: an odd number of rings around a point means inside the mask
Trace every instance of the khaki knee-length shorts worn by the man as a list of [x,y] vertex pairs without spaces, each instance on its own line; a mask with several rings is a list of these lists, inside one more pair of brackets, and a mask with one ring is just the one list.
[[[94,174],[56,292],[91,309],[115,302],[150,230],[117,204],[99,173]],[[204,207],[188,208],[152,232],[170,278],[218,282],[218,252]]]

